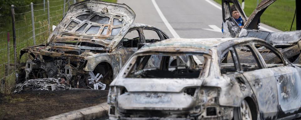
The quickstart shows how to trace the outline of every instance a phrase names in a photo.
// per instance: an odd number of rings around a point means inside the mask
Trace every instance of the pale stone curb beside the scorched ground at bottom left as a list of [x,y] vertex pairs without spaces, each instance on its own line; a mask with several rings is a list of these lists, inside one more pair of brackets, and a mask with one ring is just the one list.
[[108,103],[59,114],[43,120],[91,120],[108,115]]

